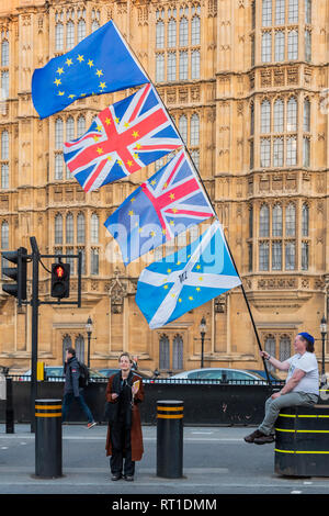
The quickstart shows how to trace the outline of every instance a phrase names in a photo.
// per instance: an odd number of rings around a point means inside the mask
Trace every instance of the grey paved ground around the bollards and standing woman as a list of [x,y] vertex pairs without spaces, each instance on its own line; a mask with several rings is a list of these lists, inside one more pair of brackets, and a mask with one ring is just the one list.
[[145,453],[134,482],[111,481],[106,426],[63,426],[63,476],[35,478],[30,425],[5,434],[0,425],[0,494],[328,494],[329,479],[274,473],[274,445],[247,445],[250,427],[184,427],[183,478],[157,476],[157,428],[144,426]]

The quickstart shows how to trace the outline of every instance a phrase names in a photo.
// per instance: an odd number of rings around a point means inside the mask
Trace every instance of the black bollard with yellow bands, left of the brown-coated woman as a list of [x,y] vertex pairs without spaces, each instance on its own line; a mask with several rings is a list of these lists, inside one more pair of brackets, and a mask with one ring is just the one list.
[[61,400],[35,400],[35,475],[61,474]]

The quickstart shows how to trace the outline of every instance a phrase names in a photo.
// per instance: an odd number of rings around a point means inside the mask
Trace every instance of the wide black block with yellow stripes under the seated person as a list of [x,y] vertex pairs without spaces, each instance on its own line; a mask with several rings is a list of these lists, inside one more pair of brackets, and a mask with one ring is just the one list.
[[329,405],[282,408],[274,451],[277,474],[329,476]]

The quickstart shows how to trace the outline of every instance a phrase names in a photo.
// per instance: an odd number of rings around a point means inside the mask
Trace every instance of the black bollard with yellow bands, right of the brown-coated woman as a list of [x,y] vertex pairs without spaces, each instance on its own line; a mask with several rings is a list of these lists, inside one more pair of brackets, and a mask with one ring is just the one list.
[[183,411],[182,401],[157,402],[157,476],[183,476]]

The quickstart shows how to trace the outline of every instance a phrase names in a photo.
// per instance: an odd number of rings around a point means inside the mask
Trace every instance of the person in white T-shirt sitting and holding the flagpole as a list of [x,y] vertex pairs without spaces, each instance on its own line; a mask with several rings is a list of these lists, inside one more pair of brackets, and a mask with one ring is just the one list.
[[245,437],[246,442],[264,445],[274,441],[274,424],[281,408],[290,406],[311,406],[319,396],[319,370],[314,352],[314,337],[302,332],[295,337],[296,355],[284,362],[271,357],[266,351],[261,356],[281,371],[288,371],[285,385],[265,402],[265,416],[258,429]]

